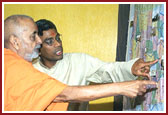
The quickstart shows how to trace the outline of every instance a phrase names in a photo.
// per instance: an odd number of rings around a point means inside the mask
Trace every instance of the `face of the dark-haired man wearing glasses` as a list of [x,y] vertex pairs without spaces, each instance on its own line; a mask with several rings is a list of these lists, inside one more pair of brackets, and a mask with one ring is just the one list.
[[55,29],[43,31],[43,36],[40,38],[42,40],[42,48],[40,49],[42,58],[48,61],[57,61],[63,58],[62,41]]

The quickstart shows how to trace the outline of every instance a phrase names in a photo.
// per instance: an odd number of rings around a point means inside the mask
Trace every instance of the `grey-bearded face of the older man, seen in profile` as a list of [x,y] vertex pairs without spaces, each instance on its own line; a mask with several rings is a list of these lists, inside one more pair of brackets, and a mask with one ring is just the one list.
[[36,24],[30,19],[23,20],[21,25],[23,27],[20,35],[22,43],[19,54],[25,60],[32,61],[39,55],[38,48],[40,48],[41,39],[37,35],[38,29]]

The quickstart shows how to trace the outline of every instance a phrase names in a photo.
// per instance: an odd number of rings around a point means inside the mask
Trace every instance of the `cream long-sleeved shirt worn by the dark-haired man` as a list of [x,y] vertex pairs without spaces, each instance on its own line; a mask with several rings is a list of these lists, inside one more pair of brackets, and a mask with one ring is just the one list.
[[[63,59],[57,61],[52,68],[44,66],[40,59],[33,66],[64,84],[89,85],[90,82],[109,83],[135,80],[136,77],[132,75],[131,67],[136,60],[107,63],[84,53],[65,53]],[[72,109],[69,108],[69,110]],[[80,107],[79,110],[86,110],[86,107]]]

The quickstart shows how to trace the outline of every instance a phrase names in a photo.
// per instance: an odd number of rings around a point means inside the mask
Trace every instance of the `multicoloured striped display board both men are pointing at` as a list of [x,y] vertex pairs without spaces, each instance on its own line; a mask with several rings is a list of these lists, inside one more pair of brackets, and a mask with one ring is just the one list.
[[[165,95],[164,76],[164,4],[135,4],[130,6],[126,60],[143,58],[145,61],[159,59],[150,68],[158,89],[150,89],[135,99],[124,97],[123,110],[163,111]],[[140,77],[139,79],[143,79]]]

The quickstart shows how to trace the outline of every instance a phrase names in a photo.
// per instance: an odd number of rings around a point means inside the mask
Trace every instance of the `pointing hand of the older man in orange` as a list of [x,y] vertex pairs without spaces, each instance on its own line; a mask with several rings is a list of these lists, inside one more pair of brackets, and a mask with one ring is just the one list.
[[[150,87],[151,86],[151,87]],[[121,94],[130,98],[143,95],[148,88],[157,88],[157,83],[149,80],[134,80],[119,84]]]

